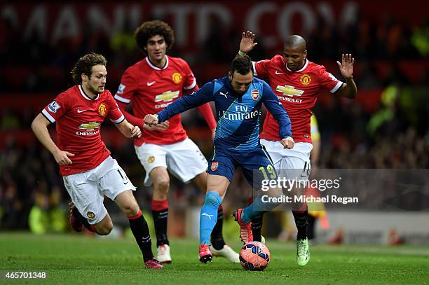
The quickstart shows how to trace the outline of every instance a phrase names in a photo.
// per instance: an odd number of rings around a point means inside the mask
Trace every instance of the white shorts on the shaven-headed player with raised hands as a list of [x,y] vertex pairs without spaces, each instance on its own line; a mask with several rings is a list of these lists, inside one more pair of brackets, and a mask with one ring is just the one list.
[[273,160],[278,176],[286,179],[308,180],[310,176],[310,153],[313,144],[298,142],[294,148],[283,148],[280,141],[261,139],[261,144]]

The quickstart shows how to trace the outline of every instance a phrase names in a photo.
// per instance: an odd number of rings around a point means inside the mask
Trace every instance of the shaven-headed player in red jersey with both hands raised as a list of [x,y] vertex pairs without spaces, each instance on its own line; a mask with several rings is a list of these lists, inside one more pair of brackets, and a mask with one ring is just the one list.
[[[256,46],[254,34],[243,32],[239,54],[248,53]],[[282,102],[292,122],[294,148],[279,148],[278,123],[271,113],[266,114],[263,131],[260,135],[261,144],[274,162],[278,176],[286,179],[308,180],[310,175],[311,144],[310,118],[311,109],[318,99],[321,88],[332,94],[353,99],[357,88],[353,81],[353,64],[351,54],[343,54],[341,62],[337,62],[345,83],[326,71],[325,67],[307,59],[306,41],[298,35],[287,37],[283,45],[282,55],[275,55],[271,60],[253,62],[254,76],[267,78],[271,88]],[[306,204],[292,206],[295,224],[297,225],[297,263],[304,266],[308,263]],[[254,240],[260,237],[261,218],[252,220]]]

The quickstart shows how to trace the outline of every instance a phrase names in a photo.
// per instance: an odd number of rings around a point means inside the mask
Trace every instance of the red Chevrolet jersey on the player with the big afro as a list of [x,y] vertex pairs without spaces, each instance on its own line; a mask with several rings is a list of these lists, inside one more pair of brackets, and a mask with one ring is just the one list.
[[[158,113],[165,106],[182,96],[182,90],[198,88],[195,76],[189,65],[178,57],[165,56],[165,67],[158,68],[146,57],[128,67],[121,79],[115,99],[128,104],[132,102],[132,111],[137,118]],[[142,130],[143,135],[135,140],[135,145],[174,144],[186,139],[180,114],[170,118],[170,127],[163,132]]]

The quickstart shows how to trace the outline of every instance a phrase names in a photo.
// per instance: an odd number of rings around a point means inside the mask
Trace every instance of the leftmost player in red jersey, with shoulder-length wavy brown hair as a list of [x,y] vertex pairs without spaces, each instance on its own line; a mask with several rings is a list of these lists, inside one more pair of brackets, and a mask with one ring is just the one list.
[[[71,71],[76,83],[60,93],[34,118],[32,130],[60,165],[64,186],[71,197],[70,224],[76,231],[83,225],[98,235],[109,235],[113,224],[104,207],[104,195],[118,204],[128,216],[132,234],[148,268],[163,269],[151,250],[151,236],[132,191],[135,186],[101,139],[105,118],[115,123],[128,138],[139,138],[139,127],[125,120],[106,84],[107,60],[90,53],[81,57]],[[48,125],[56,124],[57,142]]]

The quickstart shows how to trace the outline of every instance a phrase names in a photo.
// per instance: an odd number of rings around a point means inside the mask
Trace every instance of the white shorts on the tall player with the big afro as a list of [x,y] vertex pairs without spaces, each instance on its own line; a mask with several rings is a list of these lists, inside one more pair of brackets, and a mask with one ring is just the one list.
[[144,186],[151,186],[149,174],[155,167],[165,167],[184,183],[188,183],[207,169],[207,160],[191,139],[176,144],[142,144],[134,146],[137,158],[142,163],[146,176]]

